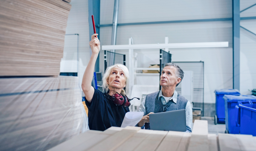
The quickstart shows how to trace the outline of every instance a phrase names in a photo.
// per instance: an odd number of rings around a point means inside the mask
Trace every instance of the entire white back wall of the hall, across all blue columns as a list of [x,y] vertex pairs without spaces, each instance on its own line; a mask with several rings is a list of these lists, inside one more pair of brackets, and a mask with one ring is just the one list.
[[[241,10],[256,0],[241,0]],[[79,77],[90,59],[88,1],[72,0],[66,34],[79,34]],[[114,0],[101,0],[100,24],[112,24]],[[256,16],[256,6],[241,13],[241,17]],[[195,20],[231,18],[232,0],[120,0],[118,23],[154,22],[169,20]],[[256,20],[241,20],[241,26],[256,33]],[[100,28],[101,45],[111,44],[112,27]],[[116,44],[217,42],[228,41],[227,48],[179,48],[169,49],[172,61],[204,61],[204,101],[215,103],[215,89],[233,88],[232,21],[166,23],[151,25],[118,26]],[[250,94],[256,88],[256,36],[241,28],[240,91]],[[67,37],[67,36],[66,36]],[[75,39],[75,37],[74,37]],[[64,56],[67,61],[76,60],[76,46],[65,40]],[[70,43],[70,44],[67,44]],[[69,46],[68,46],[69,45]],[[128,51],[116,51],[126,54]],[[134,50],[139,53],[138,66],[148,67],[159,63],[159,50]],[[100,52],[100,71],[104,73],[104,52]],[[126,59],[129,65],[128,58]],[[73,62],[73,61],[71,61]],[[70,65],[70,64],[69,64]],[[67,67],[66,69],[76,66]],[[65,67],[64,67],[65,68]]]

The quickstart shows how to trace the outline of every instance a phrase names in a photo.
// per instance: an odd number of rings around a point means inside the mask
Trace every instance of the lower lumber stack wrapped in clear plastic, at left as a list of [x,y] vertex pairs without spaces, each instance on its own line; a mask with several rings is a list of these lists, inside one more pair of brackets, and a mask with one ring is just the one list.
[[78,77],[0,78],[0,150],[47,150],[89,129]]

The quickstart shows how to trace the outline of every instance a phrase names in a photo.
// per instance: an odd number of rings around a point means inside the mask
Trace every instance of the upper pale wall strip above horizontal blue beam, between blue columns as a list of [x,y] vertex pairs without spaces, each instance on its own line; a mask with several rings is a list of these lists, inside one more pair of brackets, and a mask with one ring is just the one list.
[[[113,2],[101,0],[101,24],[112,23]],[[118,23],[232,17],[232,0],[120,0],[119,8]]]

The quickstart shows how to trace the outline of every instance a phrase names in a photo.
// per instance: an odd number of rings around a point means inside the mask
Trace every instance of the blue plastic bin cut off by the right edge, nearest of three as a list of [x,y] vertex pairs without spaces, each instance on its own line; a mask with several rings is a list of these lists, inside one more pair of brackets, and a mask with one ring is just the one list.
[[256,102],[239,105],[240,134],[256,136]]

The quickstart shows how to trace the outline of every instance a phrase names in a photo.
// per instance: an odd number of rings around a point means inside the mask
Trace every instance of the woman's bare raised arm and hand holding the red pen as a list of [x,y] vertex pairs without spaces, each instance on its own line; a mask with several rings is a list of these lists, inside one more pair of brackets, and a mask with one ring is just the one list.
[[100,42],[96,37],[98,34],[92,35],[92,40],[90,41],[90,48],[92,49],[92,55],[90,57],[90,61],[84,71],[84,76],[82,80],[82,90],[84,91],[86,100],[90,103],[93,98],[94,88],[91,86],[93,80],[93,71],[94,66],[100,51]]

